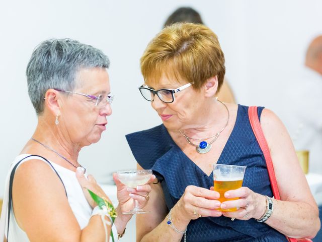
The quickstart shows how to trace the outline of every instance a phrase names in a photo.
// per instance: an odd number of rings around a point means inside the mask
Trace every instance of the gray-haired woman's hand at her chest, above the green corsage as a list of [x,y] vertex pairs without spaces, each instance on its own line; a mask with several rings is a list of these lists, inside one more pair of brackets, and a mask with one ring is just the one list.
[[106,196],[106,194],[104,193],[103,189],[97,184],[96,179],[93,177],[93,175],[88,175],[87,178],[85,177],[84,168],[77,167],[76,178],[78,180],[79,185],[81,185],[83,189],[86,200],[89,202],[92,208],[96,207],[97,204],[92,199],[88,189],[91,190],[93,193],[97,194],[98,196],[100,196],[101,198],[106,198],[107,201],[112,203],[109,197]]

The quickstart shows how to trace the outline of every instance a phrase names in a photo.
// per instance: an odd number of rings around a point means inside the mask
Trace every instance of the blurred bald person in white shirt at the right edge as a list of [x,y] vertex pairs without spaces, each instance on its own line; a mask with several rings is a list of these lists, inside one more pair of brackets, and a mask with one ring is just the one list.
[[[296,74],[286,91],[289,104],[283,120],[296,150],[309,152],[309,173],[322,175],[322,35],[309,43],[304,67]],[[312,240],[322,241],[322,230]]]

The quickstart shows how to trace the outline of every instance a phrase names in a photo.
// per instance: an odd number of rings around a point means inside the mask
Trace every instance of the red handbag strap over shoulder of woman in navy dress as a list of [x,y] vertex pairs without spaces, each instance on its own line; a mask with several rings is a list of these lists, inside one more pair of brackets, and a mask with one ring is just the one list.
[[[273,163],[272,163],[271,153],[270,153],[270,150],[268,148],[268,144],[267,144],[267,141],[265,139],[265,136],[264,136],[264,133],[263,133],[263,130],[262,130],[262,127],[261,127],[260,120],[258,118],[257,106],[249,107],[248,115],[249,115],[249,119],[250,119],[250,123],[251,123],[252,130],[254,132],[254,135],[255,135],[255,137],[257,139],[257,142],[258,142],[261,150],[263,151],[263,154],[264,154],[264,157],[265,157],[266,166],[267,166],[267,170],[268,170],[268,176],[270,178],[274,198],[278,199],[278,200],[281,200],[280,193],[279,193],[278,187],[277,187],[277,181],[276,181],[276,177],[275,177],[275,172],[274,172],[274,167],[273,167]],[[287,236],[286,236],[286,238],[290,242],[311,241],[309,239],[301,240],[301,239],[296,239],[296,238],[289,238]]]

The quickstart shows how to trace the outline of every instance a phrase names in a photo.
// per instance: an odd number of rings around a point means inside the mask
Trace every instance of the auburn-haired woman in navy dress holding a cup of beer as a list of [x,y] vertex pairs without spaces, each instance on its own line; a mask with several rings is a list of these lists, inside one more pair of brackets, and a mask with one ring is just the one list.
[[[151,213],[137,216],[137,241],[314,237],[320,226],[317,206],[279,118],[258,108],[282,201],[272,198],[249,107],[214,97],[225,66],[209,28],[184,23],[163,29],[145,49],[141,72],[139,90],[163,124],[126,136],[137,167],[152,169],[158,179],[146,207]],[[247,166],[243,186],[224,194],[235,200],[219,202],[213,164]],[[237,209],[222,211],[232,208]]]

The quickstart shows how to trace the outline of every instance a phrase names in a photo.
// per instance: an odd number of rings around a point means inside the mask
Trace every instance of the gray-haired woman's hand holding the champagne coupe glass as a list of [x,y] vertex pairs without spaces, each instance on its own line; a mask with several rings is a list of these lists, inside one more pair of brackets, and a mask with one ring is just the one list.
[[113,173],[113,179],[117,188],[117,200],[119,201],[118,207],[121,212],[129,211],[134,207],[134,200],[138,201],[139,207],[143,208],[149,200],[149,193],[151,192],[150,183],[155,179],[155,175],[145,185],[137,186],[135,188],[128,188],[121,183],[117,173]]

